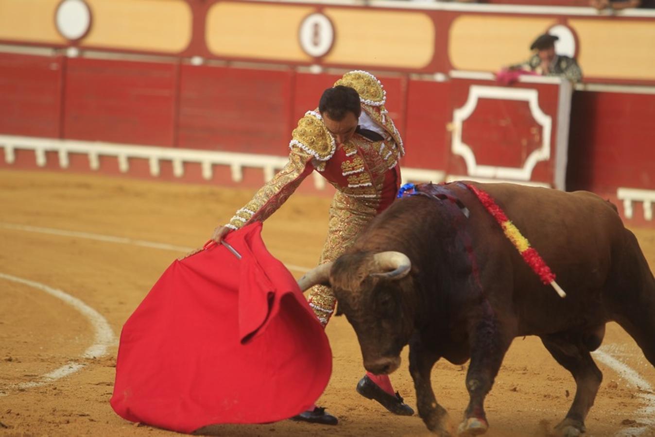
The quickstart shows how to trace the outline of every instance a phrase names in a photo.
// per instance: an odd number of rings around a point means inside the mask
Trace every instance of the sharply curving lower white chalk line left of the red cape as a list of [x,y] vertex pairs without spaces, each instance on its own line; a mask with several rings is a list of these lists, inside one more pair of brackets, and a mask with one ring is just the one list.
[[[116,341],[115,336],[113,330],[111,330],[111,326],[109,326],[109,323],[107,322],[107,319],[105,319],[102,316],[102,314],[98,313],[98,311],[96,311],[92,307],[84,304],[84,302],[82,302],[78,298],[75,298],[62,290],[48,287],[47,285],[44,285],[42,283],[29,281],[28,279],[7,275],[5,273],[0,273],[0,278],[6,279],[7,281],[20,283],[23,285],[28,285],[29,287],[36,288],[37,290],[46,292],[50,294],[50,296],[54,296],[55,298],[58,298],[64,301],[66,304],[70,305],[71,307],[77,309],[79,313],[81,313],[84,317],[86,317],[86,319],[89,321],[89,323],[91,324],[91,326],[93,326],[94,329],[94,343],[90,345],[86,349],[86,351],[84,351],[84,353],[81,355],[81,358],[88,359],[88,358],[103,357],[104,355],[107,354],[107,347],[115,343]],[[41,387],[42,385],[50,384],[53,381],[56,381],[57,379],[60,379],[65,376],[69,376],[77,372],[85,365],[86,364],[81,362],[75,362],[75,361],[67,362],[66,364],[64,364],[64,366],[52,370],[52,372],[48,372],[47,374],[41,375],[41,377],[39,377],[39,379],[37,379],[36,381],[19,383],[12,387],[9,387],[9,389],[0,391],[0,396],[7,396],[9,394],[8,393],[9,390],[11,389],[21,390],[21,389],[28,389],[33,387]]]

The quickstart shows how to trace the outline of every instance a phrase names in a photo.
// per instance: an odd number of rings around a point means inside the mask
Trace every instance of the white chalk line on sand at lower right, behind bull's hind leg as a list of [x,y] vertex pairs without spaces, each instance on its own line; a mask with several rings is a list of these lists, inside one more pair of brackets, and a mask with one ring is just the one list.
[[593,352],[593,356],[605,364],[605,366],[614,370],[620,377],[626,379],[627,383],[637,388],[639,391],[635,396],[644,403],[642,408],[635,411],[635,415],[637,415],[637,424],[635,427],[625,428],[617,432],[616,436],[639,436],[646,432],[648,428],[655,426],[655,393],[648,381],[643,379],[637,371],[626,363],[612,357],[608,349],[610,349],[609,346],[603,346]]

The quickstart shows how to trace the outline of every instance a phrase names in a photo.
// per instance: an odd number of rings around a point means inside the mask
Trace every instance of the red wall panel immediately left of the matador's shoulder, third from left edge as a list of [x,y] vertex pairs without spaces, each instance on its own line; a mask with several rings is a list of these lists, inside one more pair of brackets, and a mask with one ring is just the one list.
[[293,72],[182,65],[178,145],[287,154]]

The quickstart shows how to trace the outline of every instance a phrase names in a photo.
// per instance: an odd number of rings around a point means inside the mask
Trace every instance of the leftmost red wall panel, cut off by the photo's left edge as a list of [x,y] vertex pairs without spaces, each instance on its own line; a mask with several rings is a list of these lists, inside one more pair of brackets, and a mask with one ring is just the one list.
[[60,136],[65,58],[0,54],[0,132]]

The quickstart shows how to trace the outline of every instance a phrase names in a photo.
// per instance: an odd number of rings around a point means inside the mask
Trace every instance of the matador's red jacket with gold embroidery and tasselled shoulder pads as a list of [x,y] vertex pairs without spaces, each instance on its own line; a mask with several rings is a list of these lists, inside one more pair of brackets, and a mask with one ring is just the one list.
[[[340,202],[344,209],[362,208],[369,211],[366,216],[375,215],[382,197],[384,175],[389,169],[398,172],[396,164],[405,153],[402,139],[384,107],[386,92],[375,76],[365,71],[351,71],[337,80],[337,85],[350,86],[360,94],[362,110],[383,128],[384,140],[371,141],[355,134],[350,141],[337,146],[320,113],[307,111],[291,135],[286,166],[236,211],[225,226],[238,229],[255,220],[265,220],[314,169],[337,188],[337,195],[360,200]],[[400,183],[400,175],[394,182]]]

